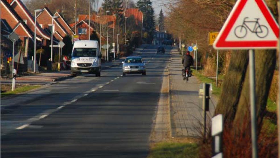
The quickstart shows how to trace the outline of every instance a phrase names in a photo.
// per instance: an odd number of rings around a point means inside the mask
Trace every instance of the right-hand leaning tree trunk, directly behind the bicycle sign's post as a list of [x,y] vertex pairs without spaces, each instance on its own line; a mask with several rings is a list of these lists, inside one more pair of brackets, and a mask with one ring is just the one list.
[[[256,118],[257,127],[260,131],[260,125],[265,115],[265,108],[269,89],[276,64],[275,50],[256,50]],[[240,100],[237,106],[237,112],[234,118],[234,127],[242,127],[250,133],[250,89],[249,89],[249,66],[246,72],[246,78],[242,88]]]

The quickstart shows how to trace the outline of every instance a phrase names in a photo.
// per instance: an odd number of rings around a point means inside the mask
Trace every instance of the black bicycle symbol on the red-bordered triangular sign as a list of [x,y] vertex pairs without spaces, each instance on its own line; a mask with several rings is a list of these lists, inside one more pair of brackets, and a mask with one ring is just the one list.
[[[268,29],[264,25],[260,25],[259,18],[255,18],[256,21],[246,21],[249,17],[245,17],[243,20],[242,25],[238,25],[234,29],[234,34],[236,37],[242,39],[247,35],[247,28],[251,33],[256,33],[256,35],[260,38],[265,38],[268,35]],[[250,29],[250,27],[247,25],[248,23],[255,23],[254,29]]]

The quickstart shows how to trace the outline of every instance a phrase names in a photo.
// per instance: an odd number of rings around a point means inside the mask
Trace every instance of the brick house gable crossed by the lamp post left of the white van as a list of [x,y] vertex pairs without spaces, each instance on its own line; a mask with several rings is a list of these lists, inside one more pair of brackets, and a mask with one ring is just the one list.
[[[50,10],[45,7],[42,12],[37,15],[37,22],[39,23],[42,29],[52,30],[52,16],[53,14]],[[51,32],[50,32],[51,33]],[[53,19],[53,36],[57,40],[63,40],[63,38],[67,35],[67,31],[64,27],[57,21],[57,19]]]

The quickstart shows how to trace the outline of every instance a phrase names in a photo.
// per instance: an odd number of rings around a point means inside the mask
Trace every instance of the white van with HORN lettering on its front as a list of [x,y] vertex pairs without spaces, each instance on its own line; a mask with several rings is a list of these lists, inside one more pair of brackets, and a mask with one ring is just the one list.
[[100,76],[101,53],[97,40],[77,40],[74,42],[71,58],[71,75],[79,73]]

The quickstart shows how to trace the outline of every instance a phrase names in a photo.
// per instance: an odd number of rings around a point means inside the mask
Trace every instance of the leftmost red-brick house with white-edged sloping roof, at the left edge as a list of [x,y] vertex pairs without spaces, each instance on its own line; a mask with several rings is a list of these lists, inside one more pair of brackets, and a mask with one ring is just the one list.
[[[34,33],[26,25],[7,1],[1,1],[1,34],[6,37],[13,31],[19,35],[21,45],[25,47],[24,56],[27,57],[28,48],[34,44]],[[8,37],[7,37],[8,39]],[[37,40],[41,40],[37,37]]]

